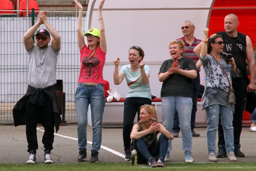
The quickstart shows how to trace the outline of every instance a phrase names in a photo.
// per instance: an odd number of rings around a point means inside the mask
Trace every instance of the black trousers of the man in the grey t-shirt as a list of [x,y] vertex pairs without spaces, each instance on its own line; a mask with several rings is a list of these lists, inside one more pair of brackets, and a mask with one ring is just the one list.
[[45,128],[44,136],[42,136],[42,143],[44,144],[45,151],[53,149],[54,141],[54,113],[50,97],[42,93],[44,96],[43,105],[34,105],[30,102],[30,97],[26,99],[26,135],[28,141],[28,152],[38,149],[37,143],[37,123],[42,123]]

